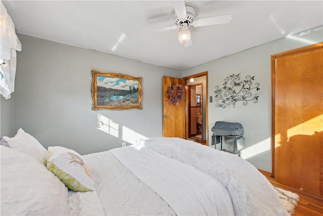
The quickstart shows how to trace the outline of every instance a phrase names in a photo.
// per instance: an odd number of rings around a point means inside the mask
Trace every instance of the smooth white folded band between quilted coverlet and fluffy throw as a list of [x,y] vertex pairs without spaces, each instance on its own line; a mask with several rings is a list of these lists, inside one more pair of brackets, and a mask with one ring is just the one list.
[[227,188],[195,167],[141,144],[111,151],[177,215],[235,214]]

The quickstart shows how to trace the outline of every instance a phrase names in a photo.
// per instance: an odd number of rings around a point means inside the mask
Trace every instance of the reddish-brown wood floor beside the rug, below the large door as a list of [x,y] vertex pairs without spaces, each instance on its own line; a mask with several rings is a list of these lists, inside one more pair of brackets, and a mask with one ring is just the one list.
[[270,181],[270,183],[272,183],[272,185],[299,195],[300,200],[295,209],[294,216],[323,215],[323,197],[308,194],[304,191],[283,185],[281,183],[276,182],[275,179],[271,177],[266,176],[266,178],[268,179],[268,181]]

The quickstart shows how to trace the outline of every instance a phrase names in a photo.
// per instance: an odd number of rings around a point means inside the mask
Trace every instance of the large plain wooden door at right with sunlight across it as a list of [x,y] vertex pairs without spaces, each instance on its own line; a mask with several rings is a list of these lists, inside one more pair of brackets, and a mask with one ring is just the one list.
[[323,196],[323,43],[272,56],[273,174]]

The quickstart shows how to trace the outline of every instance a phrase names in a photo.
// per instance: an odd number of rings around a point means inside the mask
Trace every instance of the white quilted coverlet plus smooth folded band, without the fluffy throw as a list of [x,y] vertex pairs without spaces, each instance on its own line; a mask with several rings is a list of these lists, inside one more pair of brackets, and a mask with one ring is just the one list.
[[235,215],[222,184],[143,145],[84,158],[95,191],[70,191],[70,215]]

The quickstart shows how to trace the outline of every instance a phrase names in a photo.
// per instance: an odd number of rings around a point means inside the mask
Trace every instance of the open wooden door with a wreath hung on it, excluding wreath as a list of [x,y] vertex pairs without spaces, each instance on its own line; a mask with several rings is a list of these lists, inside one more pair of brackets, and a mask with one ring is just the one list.
[[185,79],[163,76],[163,137],[185,139],[185,99],[178,106],[167,103],[166,94],[174,84],[182,84],[185,88]]

